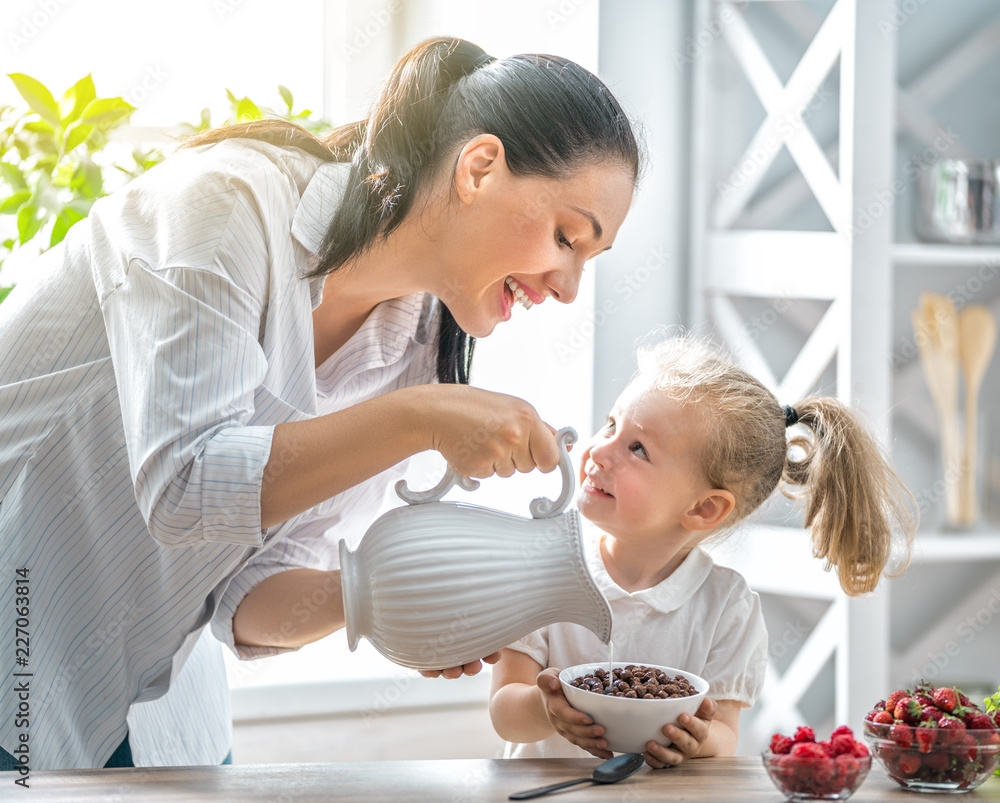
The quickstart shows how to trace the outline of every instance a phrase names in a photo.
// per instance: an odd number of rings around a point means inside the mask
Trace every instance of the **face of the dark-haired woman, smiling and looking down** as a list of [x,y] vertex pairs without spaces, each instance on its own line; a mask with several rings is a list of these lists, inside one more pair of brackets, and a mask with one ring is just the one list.
[[632,202],[632,179],[618,164],[553,179],[514,176],[500,161],[452,217],[435,288],[474,337],[509,320],[516,303],[576,298],[584,263],[611,247]]

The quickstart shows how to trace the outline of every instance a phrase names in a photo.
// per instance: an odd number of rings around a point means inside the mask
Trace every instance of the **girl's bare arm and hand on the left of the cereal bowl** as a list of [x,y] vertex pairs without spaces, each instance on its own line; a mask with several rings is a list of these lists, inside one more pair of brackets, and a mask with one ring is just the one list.
[[493,667],[490,719],[508,742],[538,742],[558,733],[601,758],[610,758],[604,728],[567,702],[555,669],[542,671],[529,655],[504,649]]

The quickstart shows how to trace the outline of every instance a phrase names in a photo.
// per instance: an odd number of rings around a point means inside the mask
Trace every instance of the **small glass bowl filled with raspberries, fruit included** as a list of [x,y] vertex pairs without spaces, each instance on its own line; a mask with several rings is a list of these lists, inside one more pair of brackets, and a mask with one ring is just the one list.
[[821,742],[812,728],[801,727],[792,736],[776,733],[761,756],[767,774],[789,800],[847,800],[872,766],[868,748],[846,725]]

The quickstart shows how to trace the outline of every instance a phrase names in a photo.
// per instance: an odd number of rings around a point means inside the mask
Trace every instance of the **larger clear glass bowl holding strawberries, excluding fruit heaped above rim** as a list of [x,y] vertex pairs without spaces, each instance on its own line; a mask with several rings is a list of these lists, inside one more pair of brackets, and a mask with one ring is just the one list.
[[1000,763],[1000,731],[996,729],[920,728],[930,731],[930,736],[923,745],[916,738],[908,745],[910,735],[893,732],[894,727],[865,722],[864,738],[889,777],[912,792],[971,792]]

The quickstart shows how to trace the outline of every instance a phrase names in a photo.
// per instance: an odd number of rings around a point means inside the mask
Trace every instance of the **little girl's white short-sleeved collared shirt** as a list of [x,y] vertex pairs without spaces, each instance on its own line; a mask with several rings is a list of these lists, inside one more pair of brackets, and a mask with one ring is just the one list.
[[[709,683],[708,695],[750,706],[767,668],[767,629],[760,598],[733,569],[718,566],[701,547],[658,585],[628,592],[608,574],[602,534],[587,533],[587,566],[611,604],[614,660],[686,669]],[[565,669],[608,660],[608,647],[581,625],[560,622],[536,630],[511,649],[543,668]],[[505,758],[589,757],[558,734],[530,744],[506,743]]]

